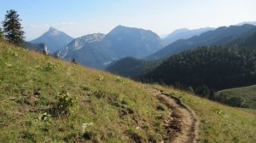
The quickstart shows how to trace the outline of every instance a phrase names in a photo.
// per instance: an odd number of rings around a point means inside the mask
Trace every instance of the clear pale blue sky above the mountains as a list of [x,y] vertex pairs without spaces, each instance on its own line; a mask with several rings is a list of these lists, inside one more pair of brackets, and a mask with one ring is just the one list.
[[20,14],[26,40],[53,26],[71,37],[115,26],[151,30],[159,35],[256,21],[256,0],[0,0],[0,21],[9,9]]

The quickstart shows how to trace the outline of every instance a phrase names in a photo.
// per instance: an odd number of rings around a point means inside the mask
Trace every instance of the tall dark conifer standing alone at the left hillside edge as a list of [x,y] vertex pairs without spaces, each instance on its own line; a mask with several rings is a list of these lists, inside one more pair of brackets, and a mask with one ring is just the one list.
[[19,16],[17,11],[10,9],[7,11],[7,14],[5,14],[5,20],[3,20],[2,23],[5,39],[9,41],[9,43],[22,45],[25,38],[25,32],[22,31]]

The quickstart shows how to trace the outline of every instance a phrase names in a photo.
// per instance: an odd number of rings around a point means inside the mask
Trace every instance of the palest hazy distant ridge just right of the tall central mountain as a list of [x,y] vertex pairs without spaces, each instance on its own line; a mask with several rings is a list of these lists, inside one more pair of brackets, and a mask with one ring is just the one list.
[[188,39],[189,37],[198,36],[203,32],[212,31],[212,30],[214,30],[214,28],[211,28],[211,27],[194,29],[194,30],[189,30],[187,28],[177,29],[176,31],[172,31],[171,34],[166,36],[163,39],[163,43],[164,43],[164,46],[167,46],[179,39]]

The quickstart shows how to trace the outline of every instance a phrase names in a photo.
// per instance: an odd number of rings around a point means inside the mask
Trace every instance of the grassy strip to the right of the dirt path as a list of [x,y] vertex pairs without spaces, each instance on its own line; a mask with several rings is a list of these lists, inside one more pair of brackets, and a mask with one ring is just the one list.
[[256,112],[224,106],[176,89],[154,85],[183,100],[200,119],[200,142],[255,142]]

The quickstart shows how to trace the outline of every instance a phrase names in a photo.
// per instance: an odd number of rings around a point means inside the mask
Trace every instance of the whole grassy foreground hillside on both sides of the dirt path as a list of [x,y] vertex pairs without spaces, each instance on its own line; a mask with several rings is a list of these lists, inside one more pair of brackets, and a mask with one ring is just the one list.
[[[256,140],[253,110],[223,106],[159,85],[135,83],[5,43],[0,43],[0,71],[2,142],[72,142],[89,138],[130,142],[132,137],[159,142],[166,133],[161,128],[162,120],[157,118],[165,117],[167,111],[155,110],[160,103],[149,92],[151,88],[180,97],[196,112],[201,120],[200,142]],[[69,93],[77,106],[72,106],[67,115],[42,121],[42,114],[55,105],[55,97],[62,91]],[[82,131],[82,123],[93,125]]]

